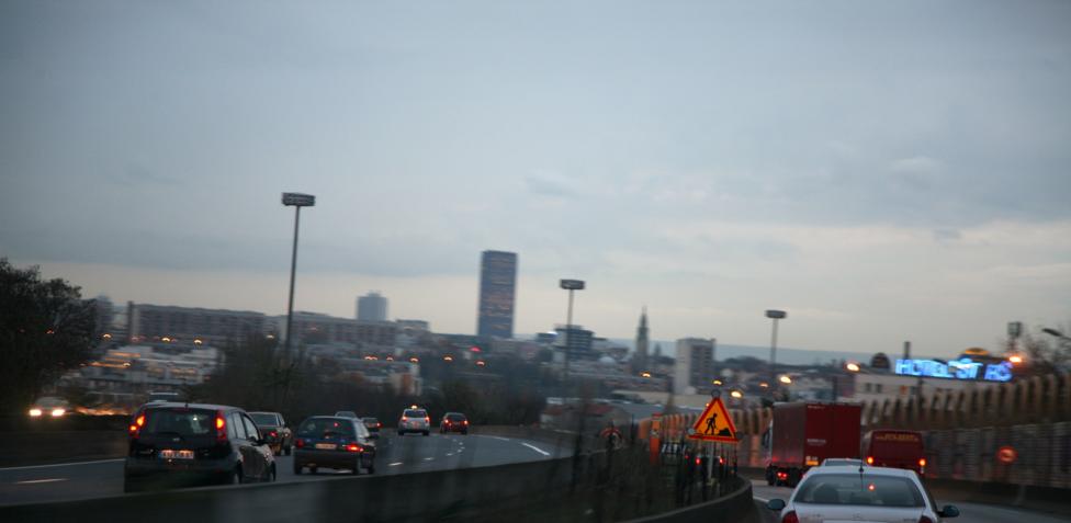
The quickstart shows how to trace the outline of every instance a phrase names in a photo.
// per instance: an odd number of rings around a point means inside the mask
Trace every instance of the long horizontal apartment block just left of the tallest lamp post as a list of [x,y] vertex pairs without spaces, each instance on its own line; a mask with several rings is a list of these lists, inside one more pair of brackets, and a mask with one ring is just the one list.
[[248,310],[202,309],[168,305],[127,304],[131,344],[165,341],[223,346],[264,333],[267,317]]

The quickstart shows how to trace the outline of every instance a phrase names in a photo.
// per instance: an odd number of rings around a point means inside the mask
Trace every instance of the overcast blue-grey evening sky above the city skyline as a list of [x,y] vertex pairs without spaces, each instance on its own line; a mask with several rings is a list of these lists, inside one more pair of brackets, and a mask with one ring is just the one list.
[[1071,319],[1071,2],[0,3],[0,255],[114,300],[950,355]]

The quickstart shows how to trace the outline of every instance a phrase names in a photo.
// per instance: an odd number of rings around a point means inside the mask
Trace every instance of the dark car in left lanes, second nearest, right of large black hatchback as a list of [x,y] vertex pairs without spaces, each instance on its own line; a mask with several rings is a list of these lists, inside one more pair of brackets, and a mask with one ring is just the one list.
[[312,474],[319,468],[375,474],[375,442],[360,418],[314,416],[294,435],[294,474],[306,467]]

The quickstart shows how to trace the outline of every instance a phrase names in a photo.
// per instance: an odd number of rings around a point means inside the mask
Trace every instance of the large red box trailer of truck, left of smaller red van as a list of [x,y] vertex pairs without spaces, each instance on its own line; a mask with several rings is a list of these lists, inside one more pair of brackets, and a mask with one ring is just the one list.
[[858,458],[861,414],[863,407],[852,403],[775,403],[766,481],[794,487],[823,459]]

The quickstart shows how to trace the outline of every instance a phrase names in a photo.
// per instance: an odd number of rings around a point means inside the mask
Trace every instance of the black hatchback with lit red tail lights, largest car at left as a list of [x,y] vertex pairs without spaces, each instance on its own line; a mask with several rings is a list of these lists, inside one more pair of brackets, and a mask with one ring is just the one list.
[[275,459],[257,424],[237,407],[157,402],[128,428],[123,490],[274,481]]

